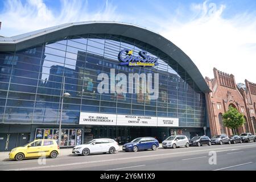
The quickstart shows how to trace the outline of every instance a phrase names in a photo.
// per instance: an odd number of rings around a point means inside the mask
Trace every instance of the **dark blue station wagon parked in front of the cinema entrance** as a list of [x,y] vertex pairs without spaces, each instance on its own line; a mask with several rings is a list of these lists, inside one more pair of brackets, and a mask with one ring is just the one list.
[[136,138],[130,143],[123,145],[123,151],[133,151],[137,152],[139,150],[156,150],[159,147],[159,142],[157,139],[152,137],[142,137]]

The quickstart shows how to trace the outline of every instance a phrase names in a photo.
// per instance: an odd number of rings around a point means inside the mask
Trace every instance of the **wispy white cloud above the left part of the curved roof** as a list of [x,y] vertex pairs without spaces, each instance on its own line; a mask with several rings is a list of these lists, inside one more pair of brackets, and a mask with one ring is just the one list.
[[43,0],[8,0],[0,14],[1,35],[14,36],[69,22],[86,20],[119,20],[116,7],[106,1],[99,9],[88,10],[87,1],[61,0],[59,12],[49,9]]

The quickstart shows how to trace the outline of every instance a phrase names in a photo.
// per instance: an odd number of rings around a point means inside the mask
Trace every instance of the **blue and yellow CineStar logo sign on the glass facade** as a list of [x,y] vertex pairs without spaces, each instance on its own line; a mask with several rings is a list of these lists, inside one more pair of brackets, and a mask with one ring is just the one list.
[[146,51],[139,51],[139,56],[133,55],[133,50],[122,49],[118,54],[120,65],[135,67],[153,67],[158,65],[158,57],[148,56]]

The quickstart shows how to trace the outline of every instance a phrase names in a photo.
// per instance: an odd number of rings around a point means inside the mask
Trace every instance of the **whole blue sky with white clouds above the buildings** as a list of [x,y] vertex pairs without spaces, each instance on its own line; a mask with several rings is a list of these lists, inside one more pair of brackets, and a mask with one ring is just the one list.
[[2,36],[85,20],[146,27],[187,53],[203,76],[212,78],[216,67],[256,82],[255,0],[0,0]]

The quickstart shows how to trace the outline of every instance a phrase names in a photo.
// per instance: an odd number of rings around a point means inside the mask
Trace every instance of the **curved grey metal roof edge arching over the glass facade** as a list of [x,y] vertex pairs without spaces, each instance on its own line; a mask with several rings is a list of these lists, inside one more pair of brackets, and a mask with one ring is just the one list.
[[44,42],[61,39],[65,36],[82,34],[122,35],[150,44],[172,57],[172,59],[187,71],[203,92],[211,92],[199,69],[180,48],[158,33],[135,26],[134,24],[104,21],[65,23],[60,26],[45,28],[27,34],[0,38],[0,52],[19,51]]

